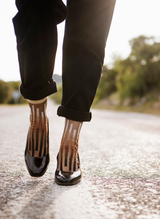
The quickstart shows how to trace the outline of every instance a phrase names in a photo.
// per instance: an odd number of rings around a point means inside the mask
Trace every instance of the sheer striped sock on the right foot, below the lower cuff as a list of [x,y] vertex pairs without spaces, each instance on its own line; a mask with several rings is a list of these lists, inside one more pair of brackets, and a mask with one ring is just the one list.
[[73,172],[80,168],[78,141],[82,124],[83,122],[66,119],[58,154],[58,170]]

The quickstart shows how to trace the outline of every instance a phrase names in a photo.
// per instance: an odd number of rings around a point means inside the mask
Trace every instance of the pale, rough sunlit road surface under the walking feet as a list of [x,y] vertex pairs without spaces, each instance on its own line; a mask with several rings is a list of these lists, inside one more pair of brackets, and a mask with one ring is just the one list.
[[29,176],[24,148],[28,106],[0,106],[0,218],[159,219],[160,117],[92,110],[80,134],[83,179],[54,182],[64,118],[48,104],[50,158],[46,174]]

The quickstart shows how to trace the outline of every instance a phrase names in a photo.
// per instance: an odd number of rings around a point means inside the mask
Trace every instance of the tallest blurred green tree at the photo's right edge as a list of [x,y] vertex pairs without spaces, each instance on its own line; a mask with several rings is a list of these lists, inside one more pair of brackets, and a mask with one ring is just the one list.
[[139,36],[130,45],[128,58],[117,60],[114,65],[121,100],[160,91],[160,43],[154,37]]

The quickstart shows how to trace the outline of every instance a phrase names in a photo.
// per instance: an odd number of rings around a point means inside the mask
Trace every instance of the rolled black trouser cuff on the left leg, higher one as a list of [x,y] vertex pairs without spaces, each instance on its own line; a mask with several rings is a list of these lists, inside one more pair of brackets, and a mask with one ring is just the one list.
[[29,90],[25,89],[22,84],[20,86],[20,92],[25,99],[29,100],[41,100],[53,93],[57,92],[56,82],[52,81],[48,87],[41,90]]

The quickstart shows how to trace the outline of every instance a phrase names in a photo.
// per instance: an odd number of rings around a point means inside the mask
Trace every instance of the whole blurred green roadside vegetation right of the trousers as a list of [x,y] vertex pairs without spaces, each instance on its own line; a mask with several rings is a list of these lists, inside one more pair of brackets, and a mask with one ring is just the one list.
[[160,42],[139,36],[130,46],[126,59],[104,66],[94,106],[160,114]]

